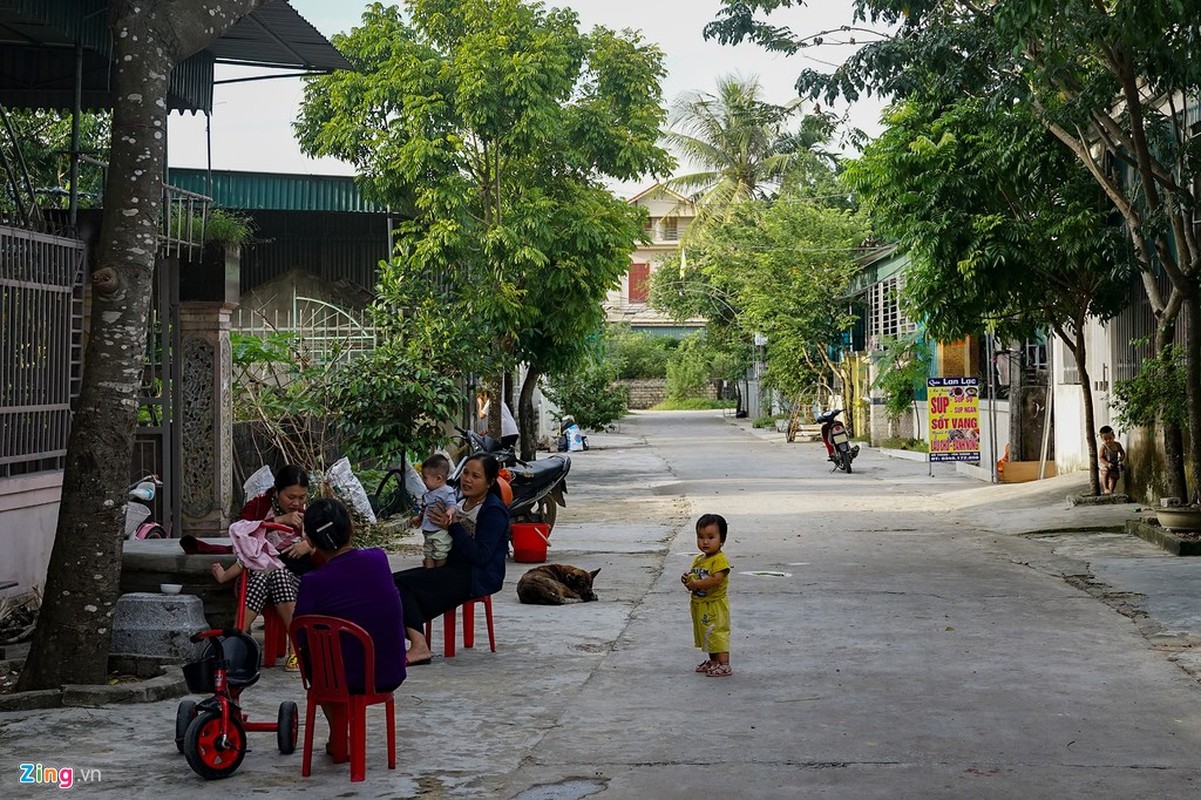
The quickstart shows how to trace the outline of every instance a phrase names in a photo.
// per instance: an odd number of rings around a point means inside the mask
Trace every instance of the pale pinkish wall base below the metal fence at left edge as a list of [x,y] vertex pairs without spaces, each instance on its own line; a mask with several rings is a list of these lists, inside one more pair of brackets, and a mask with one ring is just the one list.
[[61,494],[61,472],[0,479],[0,581],[17,581],[0,596],[23,595],[46,584]]

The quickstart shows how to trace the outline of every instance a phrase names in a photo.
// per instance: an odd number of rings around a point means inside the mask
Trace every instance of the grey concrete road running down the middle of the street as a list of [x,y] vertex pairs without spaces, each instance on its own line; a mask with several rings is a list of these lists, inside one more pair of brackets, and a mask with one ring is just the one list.
[[[239,772],[204,784],[175,753],[174,703],[157,703],[0,715],[2,796],[43,795],[18,784],[30,760],[101,770],[77,782],[83,796],[1196,794],[1201,689],[1136,621],[1059,577],[1087,562],[1078,547],[1017,535],[1063,517],[1045,490],[872,450],[831,473],[820,444],[710,412],[638,414],[593,443],[574,458],[551,559],[599,567],[600,602],[521,605],[526,565],[510,563],[498,651],[480,631],[398,692],[395,772],[376,710],[364,783],[324,757],[305,781],[299,754],[251,734]],[[729,679],[693,673],[679,583],[704,512],[730,521]],[[265,670],[246,706],[273,718],[288,698],[303,699],[298,680]]]

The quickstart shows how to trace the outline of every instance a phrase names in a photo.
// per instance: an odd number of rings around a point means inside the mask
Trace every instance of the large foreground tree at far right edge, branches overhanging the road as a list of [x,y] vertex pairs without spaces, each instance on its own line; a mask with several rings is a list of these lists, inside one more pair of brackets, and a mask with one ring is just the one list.
[[[755,17],[800,7],[794,0],[725,0],[706,35],[783,50],[817,43]],[[952,102],[987,96],[994,108],[1023,107],[1088,171],[1121,217],[1155,317],[1154,352],[1176,338],[1181,311],[1189,428],[1201,430],[1201,241],[1197,208],[1201,139],[1189,103],[1201,90],[1196,4],[1171,0],[998,0],[990,4],[856,0],[856,22],[897,29],[826,74],[802,72],[802,94],[854,100],[870,91]],[[1166,291],[1164,289],[1166,285]],[[1161,419],[1166,491],[1188,480],[1179,426]],[[1189,437],[1194,489],[1201,486],[1201,436]]]

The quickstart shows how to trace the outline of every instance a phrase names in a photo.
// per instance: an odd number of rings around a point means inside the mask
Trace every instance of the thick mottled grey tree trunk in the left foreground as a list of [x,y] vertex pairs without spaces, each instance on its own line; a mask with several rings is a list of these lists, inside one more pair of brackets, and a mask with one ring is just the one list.
[[91,336],[74,407],[46,595],[18,691],[100,683],[119,596],[151,276],[159,250],[167,82],[263,0],[109,0],[113,138],[92,269]]

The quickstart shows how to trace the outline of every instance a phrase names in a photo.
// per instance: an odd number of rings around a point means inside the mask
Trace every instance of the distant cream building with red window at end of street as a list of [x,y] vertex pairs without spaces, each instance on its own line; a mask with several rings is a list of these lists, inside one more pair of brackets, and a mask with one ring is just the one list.
[[[643,190],[628,201],[645,208],[650,219],[644,231],[645,241],[629,256],[629,271],[621,286],[609,292],[604,302],[605,321],[627,323],[634,330],[683,336],[705,327],[703,317],[682,323],[647,304],[651,275],[664,264],[679,264],[680,243],[697,216],[693,203],[663,184]],[[687,253],[686,253],[687,257]]]

